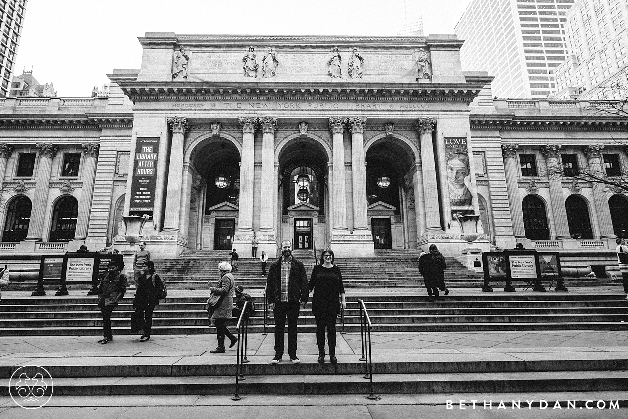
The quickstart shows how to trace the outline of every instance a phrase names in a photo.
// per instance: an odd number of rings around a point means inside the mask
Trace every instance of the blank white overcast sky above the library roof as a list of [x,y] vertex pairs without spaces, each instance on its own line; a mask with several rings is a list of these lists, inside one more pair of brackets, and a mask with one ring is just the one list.
[[[453,33],[470,0],[407,0],[425,35]],[[139,68],[146,32],[396,35],[403,0],[30,0],[14,75],[30,70],[62,97],[85,97],[114,68]]]

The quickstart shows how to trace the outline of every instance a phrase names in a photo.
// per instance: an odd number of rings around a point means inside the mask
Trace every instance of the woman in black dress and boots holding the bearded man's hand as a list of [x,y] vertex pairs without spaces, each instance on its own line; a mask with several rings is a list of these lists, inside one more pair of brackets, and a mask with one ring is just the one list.
[[[308,289],[314,290],[312,312],[316,318],[316,337],[318,344],[318,362],[325,362],[325,327],[327,327],[327,343],[329,345],[329,362],[335,364],[336,359],[336,317],[342,308],[347,307],[345,286],[342,273],[333,264],[332,249],[324,249],[320,255],[320,264],[312,269]],[[340,300],[342,299],[342,303]]]

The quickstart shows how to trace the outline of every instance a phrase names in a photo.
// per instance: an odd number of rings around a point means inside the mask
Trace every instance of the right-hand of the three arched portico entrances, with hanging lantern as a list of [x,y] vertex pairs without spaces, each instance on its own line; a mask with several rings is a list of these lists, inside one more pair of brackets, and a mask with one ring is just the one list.
[[416,219],[411,208],[416,199],[408,199],[413,195],[412,156],[406,143],[390,137],[377,140],[366,153],[368,218],[376,249],[403,249],[416,243],[416,222],[409,222]]

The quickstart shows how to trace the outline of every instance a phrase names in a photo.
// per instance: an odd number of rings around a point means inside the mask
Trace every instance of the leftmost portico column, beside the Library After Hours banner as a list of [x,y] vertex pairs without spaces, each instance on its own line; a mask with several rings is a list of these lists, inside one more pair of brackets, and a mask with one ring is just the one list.
[[[166,187],[166,212],[164,214],[163,231],[178,232],[179,212],[189,207],[189,203],[181,203],[183,141],[185,131],[188,129],[188,120],[185,117],[168,118],[168,125],[170,125],[172,130],[172,143],[170,145],[170,165],[168,165],[168,186]],[[181,208],[181,206],[184,208]]]

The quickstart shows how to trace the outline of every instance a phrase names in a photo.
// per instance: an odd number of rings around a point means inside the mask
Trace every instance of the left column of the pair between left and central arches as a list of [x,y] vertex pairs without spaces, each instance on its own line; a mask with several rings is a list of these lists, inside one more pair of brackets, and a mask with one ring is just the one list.
[[[238,121],[242,124],[242,158],[240,163],[240,210],[234,246],[236,242],[248,246],[253,239],[253,157],[257,118],[245,116],[239,117]],[[241,253],[246,254],[242,251]]]

